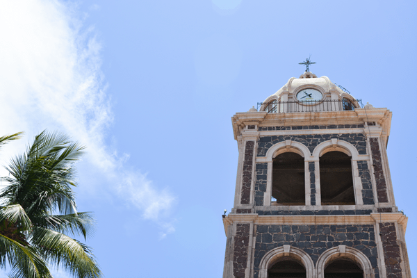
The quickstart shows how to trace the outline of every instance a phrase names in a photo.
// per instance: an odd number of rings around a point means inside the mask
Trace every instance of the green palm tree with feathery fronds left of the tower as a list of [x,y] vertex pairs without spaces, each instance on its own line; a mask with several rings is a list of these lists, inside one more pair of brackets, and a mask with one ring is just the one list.
[[[0,138],[0,147],[20,133]],[[0,190],[0,268],[10,277],[52,277],[49,265],[62,266],[74,277],[101,277],[87,245],[67,236],[92,232],[90,213],[76,211],[72,186],[74,162],[84,147],[60,133],[43,131],[26,152],[6,167],[7,185]]]

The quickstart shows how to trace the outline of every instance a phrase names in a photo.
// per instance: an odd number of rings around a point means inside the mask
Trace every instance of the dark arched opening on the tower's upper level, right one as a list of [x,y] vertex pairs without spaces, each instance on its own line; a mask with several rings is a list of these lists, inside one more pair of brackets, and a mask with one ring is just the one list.
[[322,205],[355,204],[350,156],[327,152],[320,157],[320,195]]

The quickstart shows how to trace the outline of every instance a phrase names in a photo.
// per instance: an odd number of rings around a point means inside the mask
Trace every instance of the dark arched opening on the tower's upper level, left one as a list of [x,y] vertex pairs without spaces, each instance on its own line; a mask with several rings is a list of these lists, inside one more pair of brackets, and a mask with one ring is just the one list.
[[304,206],[304,158],[300,154],[285,152],[272,161],[272,197],[277,199],[275,205]]

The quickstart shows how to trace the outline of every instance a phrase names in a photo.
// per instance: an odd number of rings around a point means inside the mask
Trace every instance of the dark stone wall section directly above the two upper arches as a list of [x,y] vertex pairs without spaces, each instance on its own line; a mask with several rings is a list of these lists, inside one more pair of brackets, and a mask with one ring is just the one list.
[[307,135],[282,135],[282,136],[263,136],[258,140],[257,156],[265,156],[268,149],[273,145],[292,140],[300,142],[309,148],[312,153],[314,148],[322,142],[331,139],[343,140],[350,142],[357,148],[359,154],[366,154],[366,138],[362,133],[345,133],[345,134],[307,134]]

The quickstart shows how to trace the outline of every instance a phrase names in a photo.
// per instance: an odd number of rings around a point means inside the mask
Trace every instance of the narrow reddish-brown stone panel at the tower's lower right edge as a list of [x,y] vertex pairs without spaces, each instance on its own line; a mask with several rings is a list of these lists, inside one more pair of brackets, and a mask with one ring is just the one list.
[[400,245],[397,242],[397,233],[394,223],[379,223],[386,278],[402,278]]

